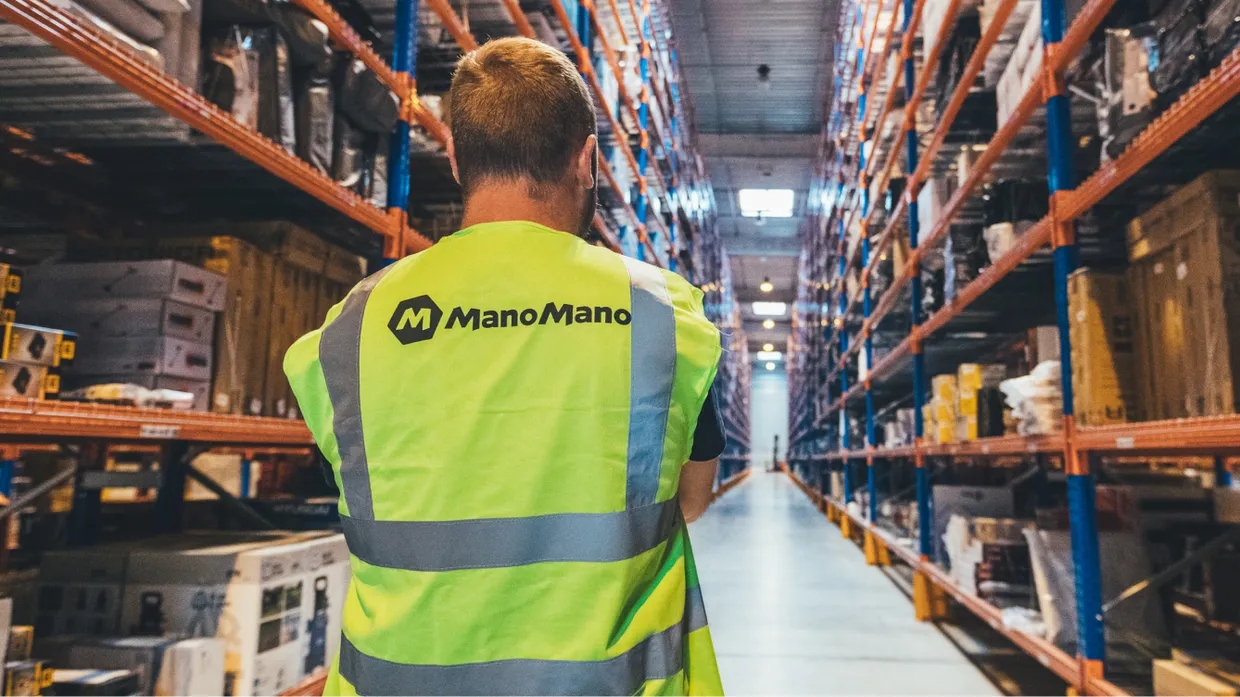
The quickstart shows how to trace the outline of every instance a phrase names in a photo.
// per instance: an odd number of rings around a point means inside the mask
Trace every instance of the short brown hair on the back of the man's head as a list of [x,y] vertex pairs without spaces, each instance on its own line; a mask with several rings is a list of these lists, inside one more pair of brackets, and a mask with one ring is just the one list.
[[594,119],[585,81],[558,48],[498,38],[466,53],[451,87],[464,195],[487,177],[529,177],[536,187],[560,181],[594,134]]

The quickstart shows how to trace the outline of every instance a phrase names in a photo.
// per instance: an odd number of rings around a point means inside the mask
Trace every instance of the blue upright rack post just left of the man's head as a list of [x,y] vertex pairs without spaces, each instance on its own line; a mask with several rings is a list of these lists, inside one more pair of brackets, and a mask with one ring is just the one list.
[[409,102],[403,104],[396,122],[392,143],[388,144],[388,215],[401,224],[394,244],[384,244],[383,265],[404,255],[404,229],[409,210],[409,119],[408,105],[417,99],[418,63],[418,0],[397,0],[396,32],[392,46],[392,69],[397,78],[409,86]]

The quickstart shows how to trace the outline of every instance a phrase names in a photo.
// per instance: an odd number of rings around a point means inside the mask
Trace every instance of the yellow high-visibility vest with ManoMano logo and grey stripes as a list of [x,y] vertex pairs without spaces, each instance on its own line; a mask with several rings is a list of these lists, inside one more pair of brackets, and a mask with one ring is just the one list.
[[719,331],[528,222],[363,280],[284,370],[340,486],[342,695],[722,693],[676,497]]

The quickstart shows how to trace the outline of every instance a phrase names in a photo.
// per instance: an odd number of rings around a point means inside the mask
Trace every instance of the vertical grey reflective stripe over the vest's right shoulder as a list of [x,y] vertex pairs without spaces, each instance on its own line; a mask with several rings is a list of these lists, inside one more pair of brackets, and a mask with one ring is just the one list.
[[632,324],[629,392],[629,507],[655,502],[676,376],[676,314],[663,273],[629,257]]

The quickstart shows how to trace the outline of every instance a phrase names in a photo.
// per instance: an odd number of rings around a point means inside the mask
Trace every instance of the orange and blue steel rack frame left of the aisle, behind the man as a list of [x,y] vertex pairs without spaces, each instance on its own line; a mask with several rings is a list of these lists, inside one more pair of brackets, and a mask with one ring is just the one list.
[[[295,186],[306,195],[343,213],[353,222],[383,238],[383,263],[408,253],[425,249],[430,239],[409,226],[407,213],[410,190],[410,130],[425,129],[440,144],[450,134],[420,102],[417,91],[418,2],[396,0],[396,27],[391,64],[374,47],[366,43],[326,0],[295,0],[304,10],[321,20],[331,40],[358,57],[392,89],[401,102],[399,119],[392,136],[388,158],[388,201],[382,210],[363,201],[352,191],[314,170],[299,158],[285,151],[273,140],[243,127],[229,114],[211,104],[192,87],[141,62],[113,38],[76,19],[48,0],[0,0],[0,19],[12,22],[63,53],[81,61],[102,76],[150,102],[171,117],[180,119],[205,136],[222,144],[275,177]],[[448,0],[428,0],[429,9],[453,36],[461,50],[477,46],[467,25]],[[516,32],[533,37],[531,22],[516,0],[503,0]],[[613,231],[613,222],[600,210],[595,227],[600,239],[618,252],[627,252],[672,270],[681,270],[692,282],[708,289],[715,298],[730,296],[727,259],[714,227],[714,198],[702,159],[693,144],[691,105],[680,86],[678,61],[671,45],[667,9],[662,2],[642,0],[639,6],[630,0],[625,16],[616,2],[604,12],[585,1],[551,0],[551,9],[562,24],[560,31],[583,74],[591,84],[605,120],[615,138],[615,155],[632,170],[634,190],[624,191],[614,174],[615,164],[600,162],[600,172],[613,189],[616,208],[626,223]],[[625,89],[626,68],[615,58],[608,41],[605,25],[613,24],[624,42],[640,37],[640,62],[627,71],[640,78],[640,103],[635,105]],[[622,104],[630,109],[630,130],[637,136],[637,154],[632,153],[629,130],[621,124],[618,104],[609,104],[600,84],[595,50],[601,47],[606,67],[614,71],[620,84]],[[650,231],[650,232],[647,232]],[[712,301],[708,299],[708,304]],[[730,300],[729,300],[730,303]],[[712,317],[727,321],[727,313]],[[734,367],[728,375],[737,377]],[[735,393],[729,391],[729,398]],[[748,419],[735,414],[737,404],[729,403],[727,413],[733,432],[748,432]],[[247,458],[263,453],[293,451],[309,454],[312,440],[304,423],[284,419],[232,417],[203,413],[180,413],[126,407],[81,406],[26,399],[0,401],[0,494],[11,494],[12,460],[16,444],[72,444],[81,455],[81,465],[69,476],[78,485],[71,513],[71,539],[91,542],[98,533],[100,515],[99,490],[103,486],[125,486],[125,476],[109,479],[102,471],[109,448],[149,446],[159,450],[162,476],[157,480],[156,510],[160,531],[179,530],[186,473],[191,454],[211,448],[243,449]],[[744,456],[739,449],[728,455],[733,465],[728,474],[743,470]],[[722,477],[720,477],[722,479]],[[89,485],[83,484],[89,480]],[[136,481],[136,480],[134,480]],[[150,477],[144,482],[154,481]],[[218,489],[218,487],[217,487]],[[221,490],[222,491],[222,490]],[[222,495],[223,497],[223,495]],[[244,502],[227,499],[231,505]],[[20,508],[20,501],[0,508],[0,520]]]

